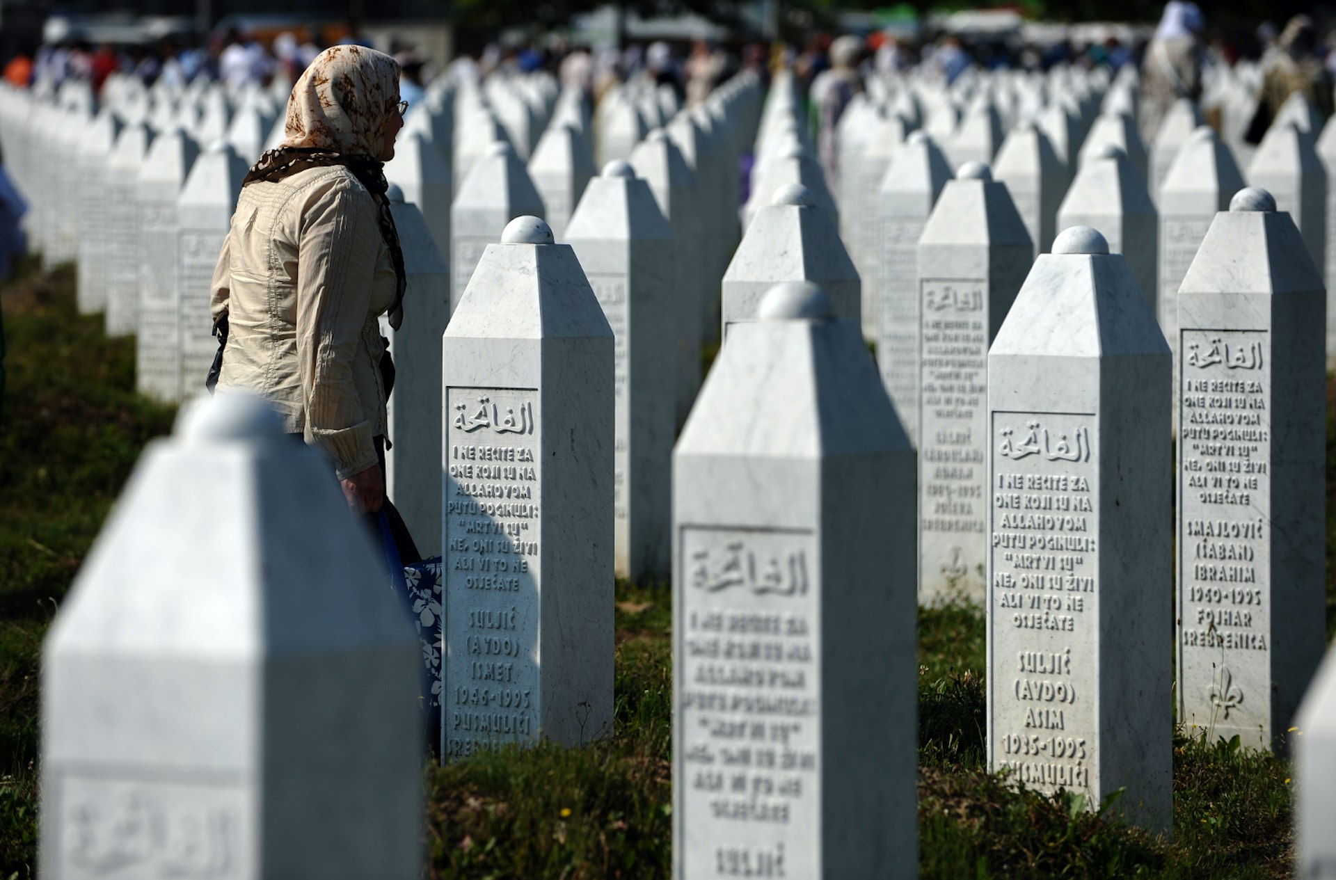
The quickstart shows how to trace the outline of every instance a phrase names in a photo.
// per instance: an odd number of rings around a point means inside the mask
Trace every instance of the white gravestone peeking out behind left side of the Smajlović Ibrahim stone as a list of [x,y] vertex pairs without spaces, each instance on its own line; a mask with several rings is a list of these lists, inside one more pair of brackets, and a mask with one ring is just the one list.
[[[1229,147],[1209,126],[1192,132],[1160,184],[1160,328],[1174,353],[1174,377],[1178,375],[1178,284],[1210,222],[1218,211],[1229,208],[1229,199],[1242,188],[1244,178]],[[1177,382],[1174,378],[1174,387]],[[1177,425],[1174,411],[1176,429]]]

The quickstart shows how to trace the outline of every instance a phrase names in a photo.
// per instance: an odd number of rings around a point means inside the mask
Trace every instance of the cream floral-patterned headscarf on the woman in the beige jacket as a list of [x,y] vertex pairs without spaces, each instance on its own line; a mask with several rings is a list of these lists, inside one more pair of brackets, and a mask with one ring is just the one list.
[[398,61],[361,45],[330,47],[293,87],[279,146],[375,159],[398,100]]

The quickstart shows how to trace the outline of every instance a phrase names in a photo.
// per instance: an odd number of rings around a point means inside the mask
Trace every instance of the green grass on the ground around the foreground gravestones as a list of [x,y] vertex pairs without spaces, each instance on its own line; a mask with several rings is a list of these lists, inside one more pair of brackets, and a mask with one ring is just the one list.
[[[0,422],[0,880],[33,876],[37,654],[144,442],[172,410],[134,394],[134,347],[73,311],[68,268],[29,263],[0,287],[8,387]],[[708,363],[712,350],[703,353]],[[1336,385],[1332,386],[1336,394]],[[1329,398],[1328,410],[1336,409]],[[1336,461],[1336,422],[1328,422]],[[1336,505],[1328,475],[1328,510]],[[1328,529],[1333,519],[1328,518]],[[1328,539],[1328,553],[1336,534]],[[1336,560],[1328,570],[1336,574]],[[1332,592],[1328,590],[1332,596]],[[671,590],[617,585],[615,734],[585,749],[502,749],[430,766],[432,877],[667,877],[672,859]],[[1329,628],[1336,601],[1328,600]],[[983,616],[919,613],[923,877],[1288,877],[1291,765],[1174,741],[1172,840],[1118,804],[1021,791],[986,772]]]

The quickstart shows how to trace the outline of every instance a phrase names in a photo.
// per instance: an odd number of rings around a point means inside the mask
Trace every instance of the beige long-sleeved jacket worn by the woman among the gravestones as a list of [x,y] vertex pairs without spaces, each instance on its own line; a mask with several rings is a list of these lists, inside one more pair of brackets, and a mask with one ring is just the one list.
[[395,275],[371,194],[342,167],[242,190],[214,270],[214,320],[228,315],[219,393],[250,389],[341,478],[377,463],[385,346],[377,316]]

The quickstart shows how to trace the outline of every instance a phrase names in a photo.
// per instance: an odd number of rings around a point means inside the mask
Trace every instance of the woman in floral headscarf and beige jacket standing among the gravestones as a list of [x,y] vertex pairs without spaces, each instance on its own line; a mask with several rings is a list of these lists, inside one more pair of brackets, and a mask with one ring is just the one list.
[[335,45],[293,87],[283,142],[246,175],[214,270],[210,382],[269,398],[289,431],[330,458],[355,513],[386,506],[411,562],[420,554],[385,503],[393,369],[377,320],[402,320],[403,255],[382,171],[403,124],[398,81],[389,55]]

